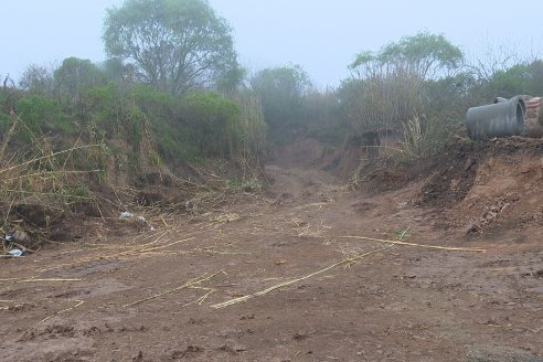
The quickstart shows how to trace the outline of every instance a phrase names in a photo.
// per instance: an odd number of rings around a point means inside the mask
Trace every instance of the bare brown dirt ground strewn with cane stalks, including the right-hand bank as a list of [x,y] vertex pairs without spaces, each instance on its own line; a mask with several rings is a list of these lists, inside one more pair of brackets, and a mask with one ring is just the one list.
[[543,151],[511,142],[385,192],[279,158],[265,194],[1,260],[0,360],[543,361]]

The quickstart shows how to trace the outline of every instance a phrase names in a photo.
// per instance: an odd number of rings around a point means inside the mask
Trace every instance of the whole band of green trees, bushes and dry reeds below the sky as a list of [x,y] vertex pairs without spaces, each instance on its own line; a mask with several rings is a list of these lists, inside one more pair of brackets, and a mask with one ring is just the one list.
[[207,159],[251,168],[266,145],[297,137],[379,147],[395,135],[393,157],[412,162],[439,152],[469,106],[543,95],[541,60],[469,64],[426,32],[359,53],[337,89],[316,88],[298,65],[247,75],[226,20],[202,0],[127,0],[108,10],[103,39],[102,64],[74,56],[30,65],[18,84],[3,77],[2,199],[82,195],[82,180]]

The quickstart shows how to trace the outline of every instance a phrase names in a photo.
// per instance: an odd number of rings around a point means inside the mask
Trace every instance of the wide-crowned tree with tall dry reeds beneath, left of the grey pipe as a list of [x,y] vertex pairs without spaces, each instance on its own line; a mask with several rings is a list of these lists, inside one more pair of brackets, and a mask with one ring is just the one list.
[[464,63],[462,52],[444,35],[422,32],[362,52],[349,66],[352,79],[340,96],[345,115],[359,132],[403,128],[428,111],[428,85],[451,77]]

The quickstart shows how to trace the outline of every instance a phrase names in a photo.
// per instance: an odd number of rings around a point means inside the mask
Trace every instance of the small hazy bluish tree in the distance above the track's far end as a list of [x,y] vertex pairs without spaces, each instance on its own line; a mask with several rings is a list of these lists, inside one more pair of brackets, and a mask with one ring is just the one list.
[[311,87],[308,74],[299,65],[266,68],[249,83],[262,97],[264,118],[270,130],[292,128],[301,115],[304,96]]

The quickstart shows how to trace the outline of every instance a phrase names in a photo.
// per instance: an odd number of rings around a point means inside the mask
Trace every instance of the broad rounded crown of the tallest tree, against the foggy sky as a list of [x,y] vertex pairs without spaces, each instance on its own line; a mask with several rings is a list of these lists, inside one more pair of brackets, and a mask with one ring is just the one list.
[[127,0],[108,9],[103,40],[140,81],[173,94],[210,87],[238,67],[230,25],[204,0]]

